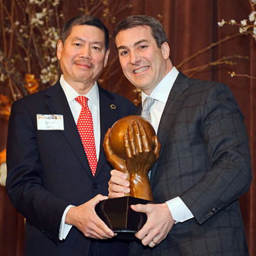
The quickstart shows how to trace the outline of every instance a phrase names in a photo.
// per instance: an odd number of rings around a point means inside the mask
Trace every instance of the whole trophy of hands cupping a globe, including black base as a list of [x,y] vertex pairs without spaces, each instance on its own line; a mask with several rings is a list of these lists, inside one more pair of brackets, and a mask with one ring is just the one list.
[[108,129],[103,147],[113,168],[127,174],[131,193],[100,202],[97,214],[115,232],[137,232],[147,216],[132,211],[130,205],[153,200],[148,172],[161,148],[156,132],[141,116],[125,116]]

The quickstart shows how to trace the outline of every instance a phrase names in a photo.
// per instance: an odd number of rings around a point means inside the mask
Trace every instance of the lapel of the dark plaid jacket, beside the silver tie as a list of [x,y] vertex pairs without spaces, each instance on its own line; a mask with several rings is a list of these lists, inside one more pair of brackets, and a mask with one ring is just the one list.
[[[163,115],[161,117],[159,128],[157,131],[157,137],[159,142],[161,143],[159,159],[163,154],[163,148],[164,144],[166,143],[166,138],[168,134],[171,132],[173,120],[175,119],[175,116],[179,112],[179,109],[181,108],[184,100],[188,95],[188,79],[188,77],[184,76],[184,74],[179,72],[179,75],[177,76],[177,79],[175,80],[175,83],[172,86],[172,90],[169,94],[168,100],[164,107]],[[154,174],[156,172],[157,164],[158,161],[156,162],[156,164],[154,164],[151,170],[151,185]]]

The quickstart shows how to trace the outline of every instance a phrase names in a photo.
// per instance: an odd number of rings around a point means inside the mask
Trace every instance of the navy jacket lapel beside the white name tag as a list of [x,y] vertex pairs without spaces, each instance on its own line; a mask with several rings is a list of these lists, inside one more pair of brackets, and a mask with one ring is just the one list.
[[79,132],[77,131],[76,122],[74,121],[72,112],[67,102],[67,98],[61,88],[60,82],[49,88],[45,95],[47,96],[45,102],[51,109],[52,114],[63,115],[64,131],[61,132],[63,132],[63,135],[67,139],[70,147],[76,154],[77,159],[81,162],[84,169],[91,177],[93,177],[90,165],[84,152],[81,138],[79,136]]

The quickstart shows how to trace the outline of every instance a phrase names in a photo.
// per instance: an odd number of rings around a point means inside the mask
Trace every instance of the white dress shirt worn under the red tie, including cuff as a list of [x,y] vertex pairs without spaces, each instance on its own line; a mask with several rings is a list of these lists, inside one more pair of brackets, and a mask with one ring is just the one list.
[[[74,120],[77,124],[77,120],[79,118],[82,106],[76,101],[76,97],[79,96],[79,93],[74,90],[64,79],[63,76],[60,77],[60,84],[61,88],[63,89],[65,96],[68,100],[68,105],[71,109],[72,115],[74,117]],[[88,92],[86,95],[88,98],[88,108],[90,109],[92,113],[92,120],[93,120],[93,132],[94,132],[94,138],[95,138],[95,147],[96,147],[96,154],[97,154],[97,160],[99,160],[99,151],[100,151],[100,100],[99,100],[99,89],[98,84],[95,81],[95,84],[93,85],[90,92]],[[74,207],[74,205],[68,205],[68,207],[63,212],[63,216],[61,219],[61,225],[60,225],[60,233],[59,233],[59,239],[63,240],[67,237],[68,232],[72,228],[72,225],[68,225],[65,223],[66,215],[70,207]]]

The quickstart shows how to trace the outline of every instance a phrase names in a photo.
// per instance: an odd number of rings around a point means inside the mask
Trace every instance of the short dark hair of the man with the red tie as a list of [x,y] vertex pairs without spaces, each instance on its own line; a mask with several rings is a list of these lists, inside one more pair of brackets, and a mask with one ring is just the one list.
[[106,26],[102,23],[101,20],[98,18],[92,16],[92,15],[80,15],[76,16],[71,20],[68,20],[68,22],[63,26],[63,29],[61,31],[60,40],[65,44],[66,39],[71,33],[71,29],[73,26],[82,26],[82,25],[88,25],[88,26],[95,26],[96,28],[99,28],[104,33],[105,37],[105,47],[106,51],[109,49],[109,35],[108,35],[108,29]]

